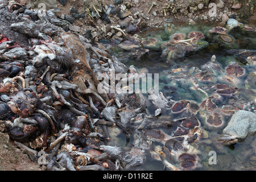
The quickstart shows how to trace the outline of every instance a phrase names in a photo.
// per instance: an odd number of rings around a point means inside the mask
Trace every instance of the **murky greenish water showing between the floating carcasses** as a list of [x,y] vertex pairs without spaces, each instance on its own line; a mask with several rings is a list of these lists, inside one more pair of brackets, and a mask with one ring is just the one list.
[[[255,25],[253,25],[255,26]],[[159,74],[159,91],[163,92],[164,96],[171,98],[174,101],[180,100],[189,100],[195,101],[197,104],[200,104],[205,99],[205,96],[201,92],[193,92],[191,90],[191,84],[188,79],[175,79],[174,77],[168,78],[170,76],[170,71],[176,68],[184,69],[198,69],[200,71],[201,66],[209,63],[212,56],[216,56],[216,61],[221,65],[222,71],[225,71],[225,68],[232,62],[236,62],[245,69],[246,76],[239,78],[240,82],[237,82],[234,85],[234,82],[225,82],[220,79],[222,76],[219,74],[217,76],[216,82],[210,83],[200,83],[200,86],[204,85],[214,85],[214,84],[228,84],[236,86],[238,89],[241,89],[236,96],[237,99],[241,99],[246,102],[252,101],[255,96],[250,96],[249,92],[246,91],[245,80],[247,75],[250,72],[255,72],[255,65],[249,65],[243,63],[241,59],[236,55],[230,53],[230,49],[221,47],[218,42],[213,42],[210,35],[208,34],[209,30],[214,27],[212,24],[201,24],[201,25],[184,25],[177,26],[175,32],[183,32],[188,34],[191,31],[200,31],[205,35],[205,41],[209,45],[205,48],[200,49],[199,51],[187,52],[184,57],[179,59],[174,59],[171,61],[166,61],[166,56],[162,56],[162,51],[152,51],[143,54],[139,59],[134,59],[134,57],[129,56],[129,51],[122,51],[121,49],[112,48],[113,54],[118,57],[122,63],[125,63],[127,66],[134,65],[135,68],[142,69],[147,68],[148,73],[158,73]],[[230,32],[231,35],[236,39],[236,50],[239,49],[249,49],[256,50],[256,32],[237,32],[236,30]],[[168,39],[168,35],[164,32],[164,28],[158,28],[154,30],[148,30],[139,34],[142,38],[148,36],[161,35],[163,41]],[[242,62],[242,63],[241,63]],[[208,93],[208,91],[206,91]],[[254,92],[255,93],[255,92]],[[254,94],[253,93],[253,94]],[[210,93],[208,93],[210,96]],[[230,97],[225,97],[221,102],[217,103],[217,106],[221,108],[224,105],[228,105]],[[150,103],[150,102],[149,102]],[[147,108],[151,114],[154,115],[155,108],[151,104],[148,104]],[[247,108],[246,108],[247,109]],[[250,110],[256,110],[256,107],[250,107]],[[236,110],[234,110],[235,112]],[[196,168],[193,170],[255,170],[256,169],[256,137],[248,137],[245,141],[235,144],[234,146],[226,147],[220,142],[218,142],[218,137],[221,134],[222,130],[228,123],[231,115],[224,115],[224,124],[221,127],[212,127],[205,123],[204,111],[199,111],[195,115],[201,123],[201,128],[204,131],[204,137],[200,138],[197,142],[192,143],[193,154],[197,156]],[[161,115],[160,117],[167,117],[170,119],[179,119],[182,118],[181,114],[172,114],[171,111]],[[161,128],[164,133],[172,135],[176,130],[175,126],[170,128]],[[133,146],[134,139],[140,136],[142,133],[140,131],[134,131],[134,134],[131,136],[130,142],[126,145],[126,137],[118,128],[113,128],[109,133],[112,135],[112,145],[121,146],[124,148],[129,148]],[[152,140],[154,147],[161,147],[164,144],[162,142]],[[154,147],[151,150],[154,150]],[[164,154],[163,154],[164,155]],[[141,166],[134,167],[131,169],[137,170],[164,170],[168,169],[164,167],[162,160],[155,159],[152,157],[150,151],[146,151],[146,159]],[[177,162],[173,161],[174,166]],[[177,164],[178,165],[178,164]]]

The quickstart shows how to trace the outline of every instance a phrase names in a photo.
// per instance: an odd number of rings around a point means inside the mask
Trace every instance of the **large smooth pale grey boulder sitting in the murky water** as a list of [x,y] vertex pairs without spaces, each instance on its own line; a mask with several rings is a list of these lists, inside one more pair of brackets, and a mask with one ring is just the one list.
[[238,110],[230,119],[222,134],[244,140],[256,133],[256,115],[250,111]]

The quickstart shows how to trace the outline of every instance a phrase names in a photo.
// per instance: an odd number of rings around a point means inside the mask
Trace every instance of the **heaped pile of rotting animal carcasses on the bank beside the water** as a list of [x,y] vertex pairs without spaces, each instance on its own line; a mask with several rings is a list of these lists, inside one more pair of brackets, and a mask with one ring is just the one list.
[[[120,86],[114,93],[98,92],[98,75],[105,76],[108,90],[108,85],[136,80],[139,73],[134,67],[127,68],[100,43],[68,32],[68,22],[57,19],[52,11],[9,11],[3,6],[0,9],[2,17],[16,21],[11,31],[27,36],[30,46],[0,36],[0,131],[8,133],[32,160],[42,162],[47,170],[121,170],[144,163],[145,151],[154,150],[148,137],[182,148],[175,145],[176,137],[168,140],[156,130],[170,127],[172,122],[157,121],[155,115],[148,114],[141,92],[129,94]],[[33,20],[35,16],[38,20]],[[130,74],[110,83],[113,72]],[[167,101],[160,93],[154,103],[159,107],[158,115],[174,101]],[[195,128],[184,133],[186,141],[200,137],[200,125],[195,123]],[[108,130],[113,127],[123,132],[127,143],[135,130],[142,134],[132,147],[110,146]],[[170,163],[170,146],[163,145],[151,154],[177,170]],[[39,161],[42,151],[46,160]]]

